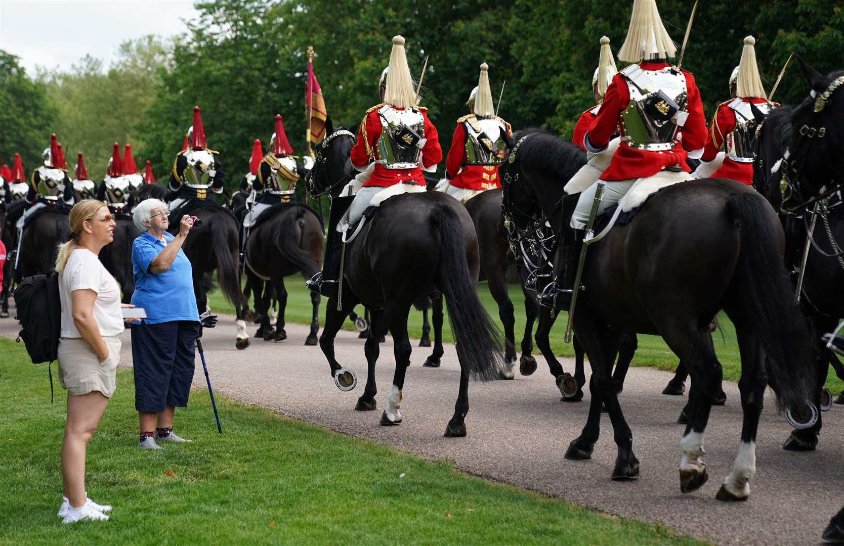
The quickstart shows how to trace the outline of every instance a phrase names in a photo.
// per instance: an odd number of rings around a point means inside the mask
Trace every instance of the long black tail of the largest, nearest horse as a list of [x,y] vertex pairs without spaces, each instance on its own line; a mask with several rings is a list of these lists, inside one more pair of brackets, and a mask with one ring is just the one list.
[[809,356],[809,329],[794,302],[794,287],[782,259],[776,220],[759,194],[731,192],[727,210],[738,228],[740,247],[733,274],[739,312],[761,343],[766,370],[778,403],[803,407],[811,400],[814,367]]

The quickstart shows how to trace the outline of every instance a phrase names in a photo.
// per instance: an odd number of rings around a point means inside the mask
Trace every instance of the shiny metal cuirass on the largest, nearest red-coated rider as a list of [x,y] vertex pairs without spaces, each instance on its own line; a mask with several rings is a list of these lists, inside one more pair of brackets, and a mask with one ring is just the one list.
[[630,104],[621,112],[622,140],[630,148],[661,151],[674,148],[677,132],[689,114],[683,73],[670,67],[657,72],[631,64],[620,72],[630,92]]

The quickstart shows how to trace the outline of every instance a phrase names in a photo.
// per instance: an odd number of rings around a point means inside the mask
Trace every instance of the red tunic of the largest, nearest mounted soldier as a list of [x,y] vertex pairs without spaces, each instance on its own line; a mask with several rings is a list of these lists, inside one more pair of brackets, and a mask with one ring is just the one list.
[[[640,66],[643,70],[657,71],[671,65],[665,62],[642,62]],[[627,143],[622,142],[613,155],[609,169],[603,171],[601,180],[621,181],[653,176],[672,165],[680,165],[684,171],[690,172],[685,160],[689,151],[703,148],[706,142],[706,120],[703,117],[701,93],[695,85],[695,77],[685,70],[681,72],[686,78],[689,97],[686,105],[689,117],[679,130],[682,142],[678,142],[673,149],[660,152],[632,149]],[[624,136],[624,128],[621,127],[621,112],[627,108],[628,104],[630,104],[630,91],[627,89],[625,77],[620,73],[615,74],[607,88],[607,94],[603,96],[601,110],[598,111],[595,122],[587,132],[592,146],[595,148],[606,146],[617,128]]]

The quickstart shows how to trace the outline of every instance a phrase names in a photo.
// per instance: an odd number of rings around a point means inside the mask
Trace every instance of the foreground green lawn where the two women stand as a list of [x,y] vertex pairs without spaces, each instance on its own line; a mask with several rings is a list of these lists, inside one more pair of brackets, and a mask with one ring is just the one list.
[[130,370],[89,444],[89,495],[111,520],[65,526],[64,392],[49,403],[22,345],[0,353],[0,543],[699,543],[222,397],[218,435],[208,392],[178,412],[192,444],[140,451]]

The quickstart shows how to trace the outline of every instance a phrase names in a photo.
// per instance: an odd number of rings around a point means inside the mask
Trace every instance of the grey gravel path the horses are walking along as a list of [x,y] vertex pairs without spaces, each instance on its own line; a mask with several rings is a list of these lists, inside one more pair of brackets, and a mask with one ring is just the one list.
[[[248,327],[250,333],[254,329]],[[238,351],[234,318],[220,316],[219,326],[207,331],[203,339],[214,392],[421,457],[448,459],[467,473],[535,489],[616,516],[660,522],[716,543],[819,543],[830,516],[844,502],[844,467],[838,459],[844,452],[841,406],[825,414],[817,451],[793,453],[782,450],[782,441],[790,430],[776,414],[770,395],[766,397],[750,500],[727,504],[715,500],[715,494],[731,471],[738,450],[741,408],[738,387],[733,383],[724,385],[727,405],[713,408],[706,430],[704,460],[710,481],[695,493],[683,495],[678,472],[683,427],[675,424],[675,419],[686,398],[661,394],[670,378],[665,372],[634,368],[627,376],[621,404],[633,430],[641,477],[634,482],[614,483],[609,475],[616,450],[606,414],[592,460],[573,462],[563,458],[568,443],[586,422],[588,404],[561,403],[560,392],[542,359],[533,376],[517,375],[515,381],[486,384],[473,381],[466,419],[468,437],[448,439],[442,433],[453,412],[459,376],[452,345],[446,346],[440,369],[422,368],[430,349],[414,348],[403,392],[403,423],[381,427],[378,419],[392,385],[392,343],[388,340],[381,349],[378,410],[355,412],[354,403],[363,392],[366,375],[362,340],[352,332],[338,336],[338,359],[355,371],[359,381],[354,391],[340,392],[328,373],[322,351],[303,345],[307,328],[289,324],[287,332],[285,342],[253,339],[252,347]],[[14,337],[16,333],[11,320],[0,320],[0,335]],[[128,333],[123,340],[122,365],[128,366],[132,362]],[[565,362],[564,366],[570,370],[573,363]],[[198,359],[194,387],[206,388]],[[214,426],[213,417],[208,417],[208,426]],[[236,430],[225,430],[225,413],[220,419],[226,434],[237,434]]]

